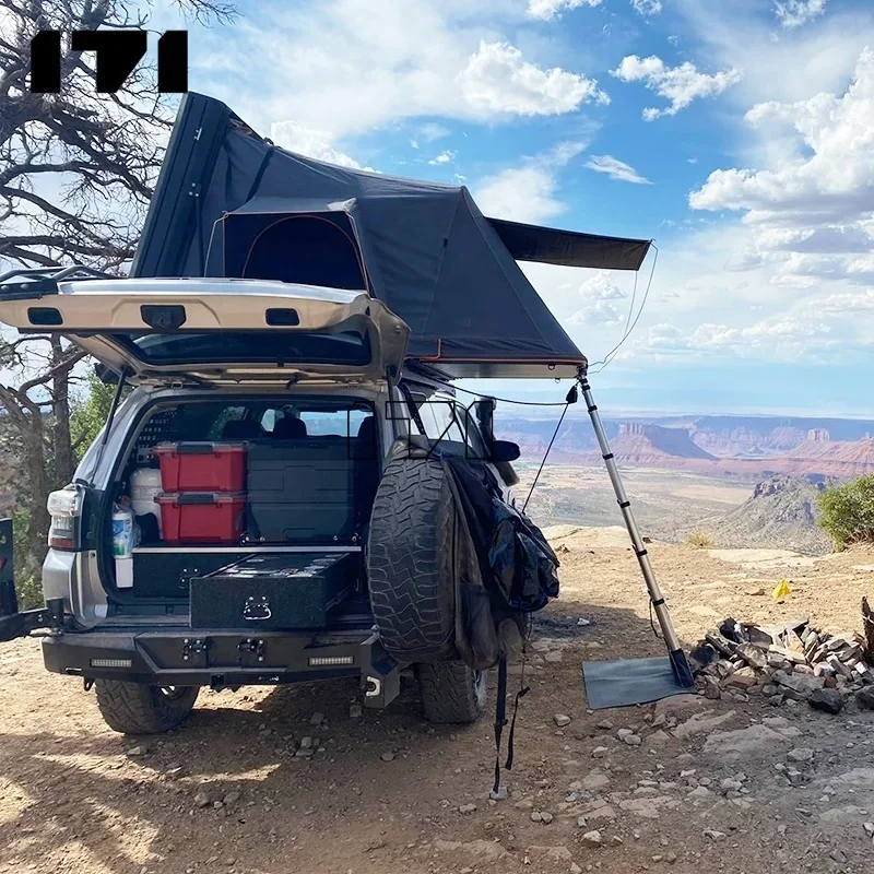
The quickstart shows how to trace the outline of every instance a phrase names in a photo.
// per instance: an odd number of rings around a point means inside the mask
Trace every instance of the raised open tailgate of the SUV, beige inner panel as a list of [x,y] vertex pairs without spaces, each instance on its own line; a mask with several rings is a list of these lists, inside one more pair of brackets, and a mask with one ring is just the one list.
[[410,333],[363,291],[201,279],[26,287],[0,285],[0,321],[63,334],[134,379],[378,380],[400,371]]

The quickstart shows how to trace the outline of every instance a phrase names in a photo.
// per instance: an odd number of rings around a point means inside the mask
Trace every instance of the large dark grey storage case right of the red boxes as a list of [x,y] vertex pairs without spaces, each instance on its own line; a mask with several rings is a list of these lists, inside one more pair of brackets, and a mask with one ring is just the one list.
[[298,439],[249,445],[249,540],[353,543],[355,460],[349,440]]

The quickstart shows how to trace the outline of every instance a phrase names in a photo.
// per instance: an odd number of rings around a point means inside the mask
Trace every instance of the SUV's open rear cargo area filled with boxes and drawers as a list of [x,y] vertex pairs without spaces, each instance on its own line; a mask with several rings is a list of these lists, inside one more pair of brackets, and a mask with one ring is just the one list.
[[367,614],[363,544],[380,457],[374,406],[355,398],[147,410],[102,522],[116,613],[264,631]]

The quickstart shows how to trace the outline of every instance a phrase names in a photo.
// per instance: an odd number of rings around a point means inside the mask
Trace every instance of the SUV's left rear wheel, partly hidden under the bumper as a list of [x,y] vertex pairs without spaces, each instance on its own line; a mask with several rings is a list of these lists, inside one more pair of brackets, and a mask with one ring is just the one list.
[[97,707],[106,724],[122,734],[160,734],[181,724],[194,706],[198,686],[145,686],[95,680]]

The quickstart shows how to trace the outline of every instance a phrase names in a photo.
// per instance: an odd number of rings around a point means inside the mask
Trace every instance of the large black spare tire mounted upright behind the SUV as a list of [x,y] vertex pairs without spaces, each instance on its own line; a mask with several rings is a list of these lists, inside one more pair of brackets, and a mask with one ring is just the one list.
[[458,658],[456,524],[438,461],[388,463],[370,517],[367,577],[382,646],[408,661]]

